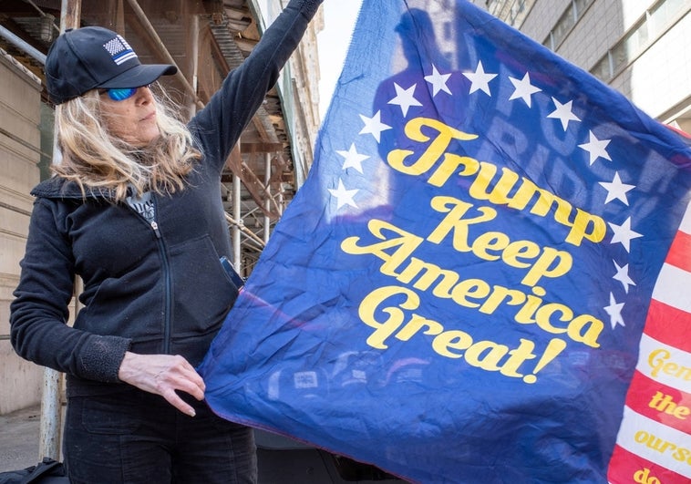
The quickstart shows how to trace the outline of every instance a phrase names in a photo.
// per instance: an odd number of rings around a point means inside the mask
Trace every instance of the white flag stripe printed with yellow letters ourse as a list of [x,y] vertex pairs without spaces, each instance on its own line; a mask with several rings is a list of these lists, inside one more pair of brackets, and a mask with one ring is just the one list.
[[691,466],[686,464],[686,459],[691,456],[691,439],[685,432],[624,407],[624,420],[616,443],[636,456],[691,479]]

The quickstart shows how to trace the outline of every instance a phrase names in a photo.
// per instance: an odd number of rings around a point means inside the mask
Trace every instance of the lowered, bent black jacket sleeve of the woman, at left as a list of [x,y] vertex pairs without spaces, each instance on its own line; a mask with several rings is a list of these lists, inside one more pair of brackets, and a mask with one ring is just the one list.
[[29,224],[21,276],[10,304],[10,337],[18,355],[70,375],[117,382],[127,338],[68,326],[74,258],[65,204],[38,199]]

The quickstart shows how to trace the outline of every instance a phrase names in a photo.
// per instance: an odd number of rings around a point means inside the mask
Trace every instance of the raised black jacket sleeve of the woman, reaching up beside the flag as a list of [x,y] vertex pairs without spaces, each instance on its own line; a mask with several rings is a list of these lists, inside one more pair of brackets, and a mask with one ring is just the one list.
[[190,129],[206,159],[222,170],[242,130],[262,105],[323,0],[291,0],[240,67],[224,79]]

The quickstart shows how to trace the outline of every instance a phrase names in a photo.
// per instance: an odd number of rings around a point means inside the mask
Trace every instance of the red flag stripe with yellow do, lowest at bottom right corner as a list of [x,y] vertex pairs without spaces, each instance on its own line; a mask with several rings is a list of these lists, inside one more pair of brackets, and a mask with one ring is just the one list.
[[619,446],[614,446],[614,453],[607,469],[607,479],[612,484],[688,484],[688,478],[681,474],[658,466]]

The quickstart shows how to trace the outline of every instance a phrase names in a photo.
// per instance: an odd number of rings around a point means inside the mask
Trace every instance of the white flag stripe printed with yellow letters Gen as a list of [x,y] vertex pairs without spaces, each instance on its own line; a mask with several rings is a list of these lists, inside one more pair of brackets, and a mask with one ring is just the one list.
[[691,353],[644,334],[636,369],[656,382],[691,393]]

